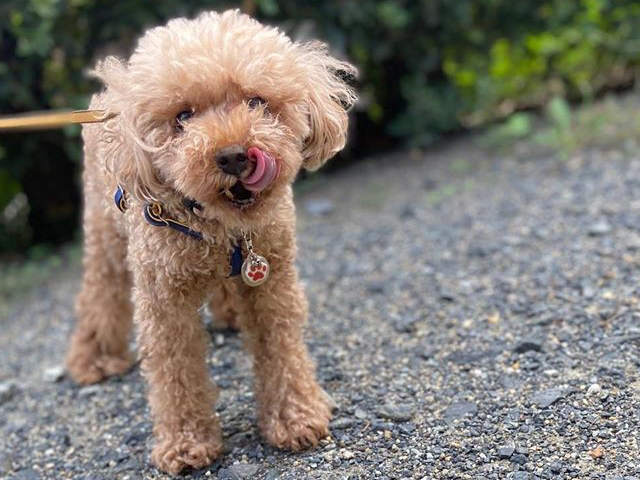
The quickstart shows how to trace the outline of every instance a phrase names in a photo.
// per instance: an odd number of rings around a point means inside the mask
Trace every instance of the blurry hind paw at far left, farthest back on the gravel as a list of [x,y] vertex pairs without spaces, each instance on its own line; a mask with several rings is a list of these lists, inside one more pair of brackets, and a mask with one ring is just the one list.
[[129,352],[119,355],[72,349],[67,357],[67,371],[80,385],[98,383],[113,375],[127,373],[133,360]]

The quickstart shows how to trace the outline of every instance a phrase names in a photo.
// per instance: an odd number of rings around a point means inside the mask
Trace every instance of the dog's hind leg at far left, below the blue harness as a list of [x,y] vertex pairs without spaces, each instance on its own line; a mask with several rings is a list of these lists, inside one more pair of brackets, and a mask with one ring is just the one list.
[[84,177],[84,277],[66,365],[73,380],[86,385],[131,367],[133,314],[127,244],[114,218],[119,212],[107,205],[95,176]]

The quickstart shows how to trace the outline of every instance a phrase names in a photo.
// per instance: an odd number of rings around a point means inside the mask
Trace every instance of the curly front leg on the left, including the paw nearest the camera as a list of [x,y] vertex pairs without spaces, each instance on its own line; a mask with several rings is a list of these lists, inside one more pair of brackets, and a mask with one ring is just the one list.
[[134,279],[134,320],[156,441],[152,460],[174,474],[204,467],[222,452],[208,337],[198,315],[204,289],[193,279],[172,278],[165,268],[136,271]]

